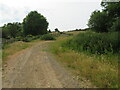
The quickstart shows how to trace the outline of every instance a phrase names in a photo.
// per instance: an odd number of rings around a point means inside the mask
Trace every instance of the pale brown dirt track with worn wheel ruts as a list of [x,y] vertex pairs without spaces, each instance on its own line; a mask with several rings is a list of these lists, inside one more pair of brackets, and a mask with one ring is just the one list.
[[48,43],[40,42],[8,60],[3,67],[3,88],[79,88],[73,76],[46,51]]

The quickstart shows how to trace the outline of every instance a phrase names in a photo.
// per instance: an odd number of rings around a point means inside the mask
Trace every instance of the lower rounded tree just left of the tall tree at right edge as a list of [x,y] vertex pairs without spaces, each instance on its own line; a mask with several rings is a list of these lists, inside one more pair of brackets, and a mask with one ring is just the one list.
[[106,12],[94,11],[89,19],[88,26],[96,32],[108,32],[107,22]]

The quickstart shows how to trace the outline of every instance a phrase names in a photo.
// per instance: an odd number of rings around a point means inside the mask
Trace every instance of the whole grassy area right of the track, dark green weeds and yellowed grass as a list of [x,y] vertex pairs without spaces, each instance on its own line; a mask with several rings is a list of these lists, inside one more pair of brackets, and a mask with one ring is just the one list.
[[[100,88],[118,88],[117,35],[118,33],[84,32],[70,39],[61,37],[51,45],[51,51],[80,82],[83,77]],[[97,48],[92,47],[95,45]]]

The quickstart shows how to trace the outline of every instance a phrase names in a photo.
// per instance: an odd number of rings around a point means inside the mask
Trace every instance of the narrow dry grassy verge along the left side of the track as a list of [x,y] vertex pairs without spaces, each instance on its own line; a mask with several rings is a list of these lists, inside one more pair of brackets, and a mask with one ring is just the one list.
[[9,56],[14,55],[15,53],[17,53],[17,52],[19,52],[23,49],[29,48],[37,42],[39,42],[39,40],[34,40],[32,42],[18,41],[18,42],[6,44],[4,46],[4,49],[2,50],[2,61],[3,61],[3,63],[4,63],[5,60],[8,59]]

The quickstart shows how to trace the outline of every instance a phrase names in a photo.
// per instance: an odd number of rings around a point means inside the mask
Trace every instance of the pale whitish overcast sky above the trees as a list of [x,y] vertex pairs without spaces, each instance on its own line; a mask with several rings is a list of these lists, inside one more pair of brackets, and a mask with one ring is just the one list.
[[101,0],[0,0],[0,26],[22,22],[30,11],[38,11],[49,22],[48,29],[84,29],[90,15],[101,10]]

